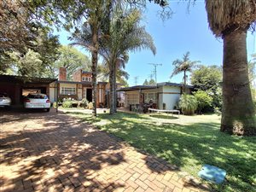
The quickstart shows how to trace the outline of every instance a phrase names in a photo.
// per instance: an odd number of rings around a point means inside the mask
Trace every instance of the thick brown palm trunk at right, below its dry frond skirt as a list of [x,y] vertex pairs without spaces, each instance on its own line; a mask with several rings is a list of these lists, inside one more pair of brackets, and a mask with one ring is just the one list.
[[256,136],[256,119],[248,79],[247,30],[224,35],[221,131]]

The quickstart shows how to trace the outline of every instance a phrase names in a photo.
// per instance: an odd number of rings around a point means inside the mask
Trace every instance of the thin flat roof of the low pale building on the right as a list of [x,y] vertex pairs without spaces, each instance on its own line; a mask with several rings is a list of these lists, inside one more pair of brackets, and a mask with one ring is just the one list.
[[[169,82],[163,82],[157,85],[136,85],[136,86],[131,86],[131,87],[125,87],[125,88],[120,88],[118,91],[129,91],[129,90],[151,90],[151,89],[156,89],[161,86],[177,86],[177,87],[182,87],[183,84],[176,84],[176,83],[169,83]],[[186,85],[187,88],[194,88],[193,85]]]

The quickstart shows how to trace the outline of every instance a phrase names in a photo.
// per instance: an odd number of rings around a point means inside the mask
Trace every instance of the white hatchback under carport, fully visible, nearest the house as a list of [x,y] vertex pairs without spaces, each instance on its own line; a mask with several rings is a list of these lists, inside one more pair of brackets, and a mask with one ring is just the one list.
[[24,99],[24,108],[44,108],[49,112],[49,98],[45,94],[30,93]]

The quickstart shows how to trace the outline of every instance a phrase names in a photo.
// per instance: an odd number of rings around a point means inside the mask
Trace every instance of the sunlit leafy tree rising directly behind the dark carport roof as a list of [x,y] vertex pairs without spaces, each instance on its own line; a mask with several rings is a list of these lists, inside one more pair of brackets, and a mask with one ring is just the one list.
[[[58,48],[60,46],[58,38],[50,34],[47,30],[40,29],[38,37],[31,44],[32,49],[10,49],[2,52],[0,61],[0,71],[2,73],[19,74],[27,77],[52,77],[49,68],[54,66],[54,62],[59,57]],[[32,68],[31,58],[36,61]],[[40,64],[38,65],[38,60]]]

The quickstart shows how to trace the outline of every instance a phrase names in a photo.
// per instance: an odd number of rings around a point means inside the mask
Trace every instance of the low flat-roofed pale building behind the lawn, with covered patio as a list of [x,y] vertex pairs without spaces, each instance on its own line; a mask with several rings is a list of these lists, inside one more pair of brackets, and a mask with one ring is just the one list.
[[[182,94],[183,84],[160,83],[157,85],[137,85],[121,88],[125,92],[125,108],[134,104],[148,103],[153,100],[155,107],[159,109],[172,110]],[[191,93],[193,86],[186,86],[187,92]]]

